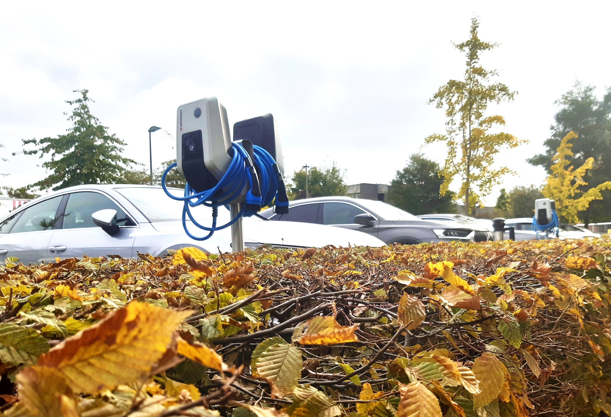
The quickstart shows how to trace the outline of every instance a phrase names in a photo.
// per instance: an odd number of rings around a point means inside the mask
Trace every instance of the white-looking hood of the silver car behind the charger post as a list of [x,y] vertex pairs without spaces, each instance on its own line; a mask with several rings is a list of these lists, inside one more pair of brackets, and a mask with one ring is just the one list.
[[[348,246],[348,244],[371,247],[385,245],[384,242],[367,233],[313,223],[244,219],[243,224],[246,243],[299,247],[324,247],[326,245],[339,247]],[[181,222],[154,222],[152,225],[161,233],[185,233]],[[189,225],[189,230],[192,229],[196,228]],[[216,233],[227,234],[230,239],[230,228]]]

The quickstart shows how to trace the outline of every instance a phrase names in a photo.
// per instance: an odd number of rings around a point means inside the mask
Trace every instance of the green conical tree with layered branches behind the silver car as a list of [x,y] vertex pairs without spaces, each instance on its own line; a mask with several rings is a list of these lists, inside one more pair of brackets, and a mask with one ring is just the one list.
[[[125,142],[100,124],[89,111],[89,90],[75,90],[81,94],[76,100],[66,101],[75,106],[67,120],[73,124],[66,134],[45,137],[40,140],[23,140],[24,145],[34,145],[25,154],[51,154],[51,160],[43,162],[49,175],[32,186],[45,190],[59,190],[80,184],[112,184],[120,182],[126,170],[136,164],[122,156]],[[67,115],[67,113],[65,113]]]

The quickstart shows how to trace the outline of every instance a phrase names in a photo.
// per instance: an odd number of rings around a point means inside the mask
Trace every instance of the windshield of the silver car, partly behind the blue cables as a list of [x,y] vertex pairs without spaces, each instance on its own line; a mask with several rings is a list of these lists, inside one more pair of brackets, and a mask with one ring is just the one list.
[[[123,197],[130,200],[144,216],[151,222],[175,222],[181,220],[183,216],[183,201],[173,200],[167,197],[166,192],[159,187],[125,187],[115,188]],[[176,188],[169,188],[170,193],[177,197],[182,197],[184,191]],[[212,222],[212,209],[206,206],[191,207],[191,215],[204,226],[210,226]],[[217,225],[224,225],[229,222],[229,210],[219,207],[219,217]],[[257,217],[250,217],[248,220],[260,220]],[[187,217],[189,221],[189,217]]]

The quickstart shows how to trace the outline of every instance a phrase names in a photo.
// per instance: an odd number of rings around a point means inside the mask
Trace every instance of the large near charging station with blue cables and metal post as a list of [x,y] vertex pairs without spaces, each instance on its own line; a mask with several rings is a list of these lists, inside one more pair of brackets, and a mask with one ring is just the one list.
[[[206,240],[214,231],[231,227],[232,250],[244,250],[242,217],[252,216],[262,207],[274,205],[274,211],[288,213],[284,186],[282,147],[271,114],[233,125],[230,137],[227,110],[216,97],[203,98],[178,107],[176,120],[177,162],[163,173],[161,185],[174,200],[184,201],[183,227],[192,239]],[[166,175],[175,167],[185,177],[185,195],[176,197],[166,189]],[[211,208],[211,227],[200,225],[190,208]],[[230,209],[231,220],[217,226],[218,209]],[[222,208],[221,208],[222,209]],[[194,236],[186,217],[207,236]]]

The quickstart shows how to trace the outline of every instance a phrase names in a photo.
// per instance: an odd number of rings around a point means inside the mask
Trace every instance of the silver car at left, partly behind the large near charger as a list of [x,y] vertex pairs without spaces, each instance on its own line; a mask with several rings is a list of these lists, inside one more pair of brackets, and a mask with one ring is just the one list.
[[[173,190],[176,195],[183,192]],[[109,209],[116,211],[118,227],[114,234],[93,223],[93,213]],[[168,249],[188,246],[207,252],[231,250],[230,228],[217,231],[207,241],[189,238],[181,223],[182,209],[183,203],[167,197],[161,187],[86,185],[65,188],[39,197],[0,220],[0,259],[4,261],[7,256],[16,256],[27,264],[50,261],[56,256],[134,258],[137,252],[158,256]],[[199,206],[192,213],[202,224],[211,224],[210,208]],[[228,221],[229,211],[219,209],[217,224]],[[258,217],[246,218],[243,223],[244,241],[250,248],[262,244],[276,247],[384,245],[373,236],[323,225],[277,223]],[[207,233],[191,222],[187,224],[196,236]]]

